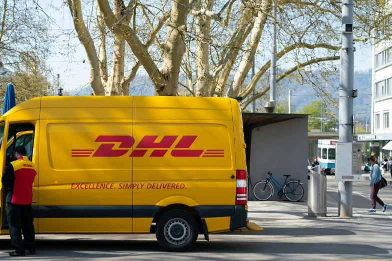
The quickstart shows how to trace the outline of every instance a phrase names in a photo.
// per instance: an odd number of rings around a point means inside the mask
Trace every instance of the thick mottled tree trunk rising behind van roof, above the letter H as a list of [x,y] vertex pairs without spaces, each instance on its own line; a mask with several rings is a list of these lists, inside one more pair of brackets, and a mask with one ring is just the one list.
[[181,62],[185,52],[184,35],[187,31],[188,13],[189,0],[173,1],[169,21],[171,26],[167,29],[161,69],[162,77],[166,82],[160,88],[155,88],[155,95],[174,96],[177,94]]

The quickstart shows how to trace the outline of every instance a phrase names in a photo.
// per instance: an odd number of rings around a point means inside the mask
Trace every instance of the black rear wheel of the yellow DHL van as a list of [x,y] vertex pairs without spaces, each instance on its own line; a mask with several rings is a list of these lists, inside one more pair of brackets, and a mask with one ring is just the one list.
[[196,242],[199,226],[187,211],[170,210],[158,219],[155,235],[165,251],[182,252]]

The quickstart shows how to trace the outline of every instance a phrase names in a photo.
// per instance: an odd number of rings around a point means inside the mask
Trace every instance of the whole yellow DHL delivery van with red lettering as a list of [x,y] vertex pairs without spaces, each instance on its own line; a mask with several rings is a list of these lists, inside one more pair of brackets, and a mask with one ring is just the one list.
[[155,233],[164,249],[183,251],[199,233],[262,229],[247,220],[235,99],[34,98],[0,117],[0,139],[3,170],[17,145],[38,166],[36,233]]

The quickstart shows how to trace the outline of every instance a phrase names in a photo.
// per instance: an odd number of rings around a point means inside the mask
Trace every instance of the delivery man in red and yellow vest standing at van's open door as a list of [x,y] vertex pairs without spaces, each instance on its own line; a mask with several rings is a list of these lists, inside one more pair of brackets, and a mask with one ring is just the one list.
[[25,237],[26,248],[30,254],[36,253],[35,231],[33,224],[32,200],[33,183],[37,175],[36,165],[26,156],[26,148],[15,148],[17,160],[9,163],[2,177],[2,183],[8,187],[7,219],[10,227],[11,243],[16,248],[11,256],[24,256],[25,246],[21,228]]

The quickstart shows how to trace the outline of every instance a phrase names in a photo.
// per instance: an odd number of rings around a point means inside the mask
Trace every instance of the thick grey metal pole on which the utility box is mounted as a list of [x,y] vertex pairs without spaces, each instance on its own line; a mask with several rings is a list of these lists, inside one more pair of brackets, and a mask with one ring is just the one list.
[[[352,24],[354,0],[342,0],[342,25]],[[343,27],[343,26],[342,26]],[[339,88],[339,141],[352,142],[354,50],[352,33],[341,35]],[[352,216],[352,181],[339,181],[339,216]]]

